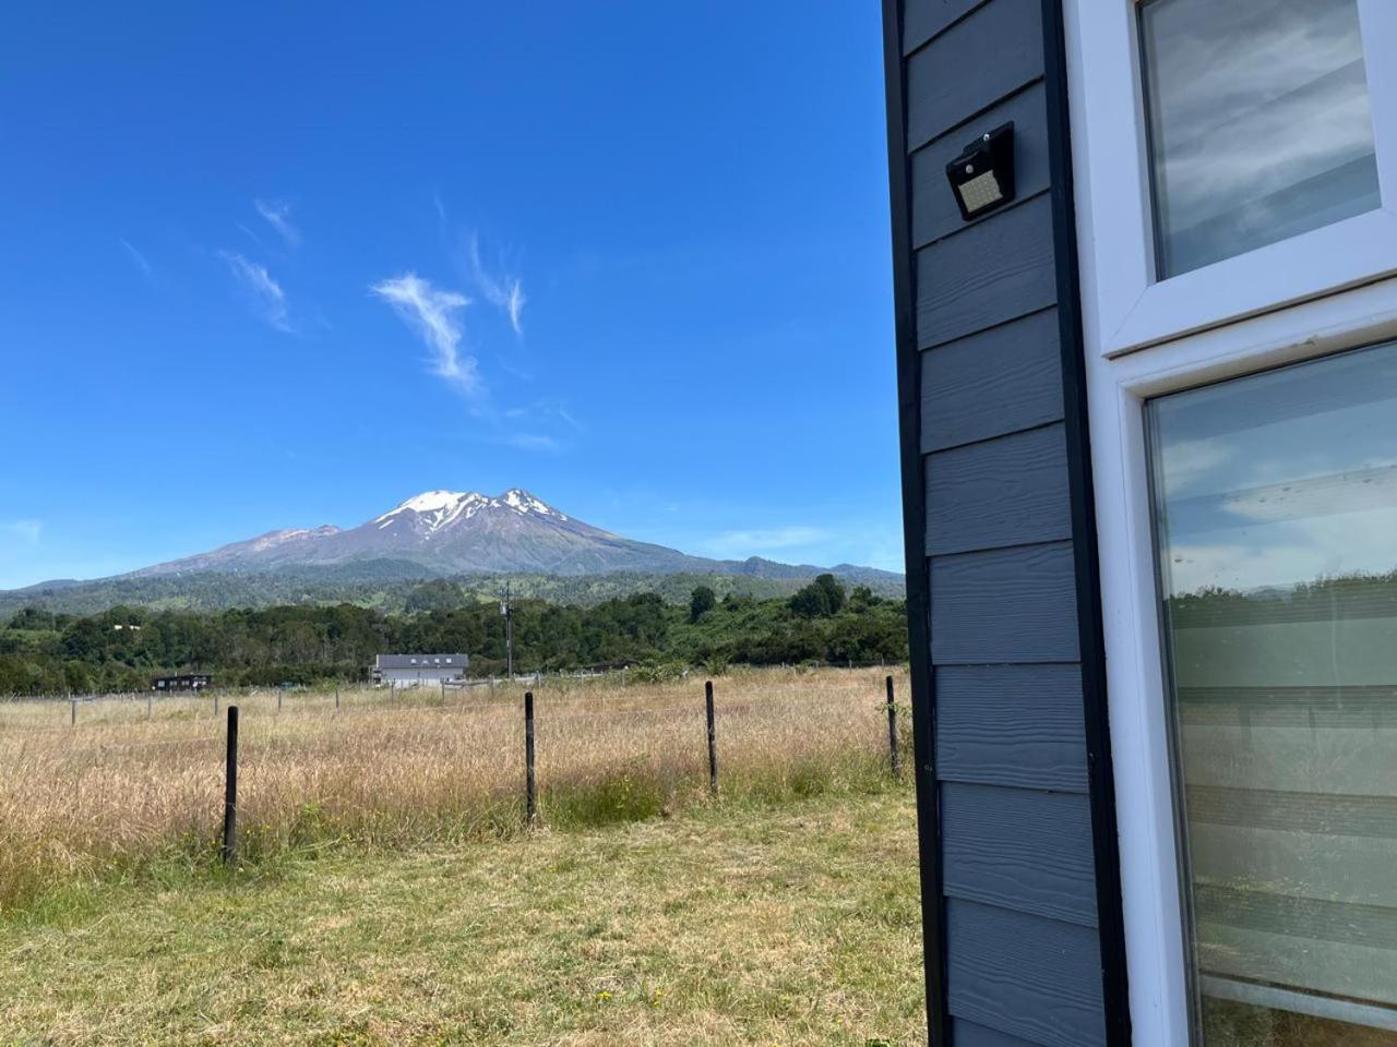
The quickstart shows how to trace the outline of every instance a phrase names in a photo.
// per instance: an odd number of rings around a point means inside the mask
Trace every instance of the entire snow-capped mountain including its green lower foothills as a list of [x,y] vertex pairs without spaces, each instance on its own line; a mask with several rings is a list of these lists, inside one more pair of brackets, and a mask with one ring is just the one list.
[[522,596],[594,603],[631,592],[686,599],[707,584],[782,596],[831,571],[849,585],[901,596],[902,575],[872,567],[710,560],[613,535],[514,489],[497,497],[426,491],[356,528],[272,530],[182,560],[95,581],[59,579],[0,591],[0,614],[29,604],[87,614],[131,603],[221,610],[274,603],[358,603],[401,610],[412,593],[450,579],[493,596],[504,577]]

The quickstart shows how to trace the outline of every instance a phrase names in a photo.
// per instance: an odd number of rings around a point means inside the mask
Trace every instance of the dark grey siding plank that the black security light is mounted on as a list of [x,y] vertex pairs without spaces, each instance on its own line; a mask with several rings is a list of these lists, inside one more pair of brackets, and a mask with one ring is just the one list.
[[[912,246],[922,247],[967,228],[946,180],[946,165],[967,142],[1000,124],[1014,124],[1014,193],[1020,200],[1052,184],[1048,170],[1048,94],[1042,81],[1000,102],[965,127],[943,134],[912,154]],[[993,212],[990,212],[993,214]],[[972,218],[971,222],[983,222]]]

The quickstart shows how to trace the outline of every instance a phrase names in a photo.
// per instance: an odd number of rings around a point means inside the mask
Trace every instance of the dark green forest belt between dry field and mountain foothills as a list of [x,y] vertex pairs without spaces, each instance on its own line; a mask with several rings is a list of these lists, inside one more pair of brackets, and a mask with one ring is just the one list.
[[[662,673],[729,663],[876,664],[907,658],[907,609],[820,575],[788,597],[694,586],[682,603],[654,592],[594,604],[520,599],[517,671],[631,666]],[[98,614],[24,607],[0,628],[0,694],[142,691],[155,676],[211,671],[219,687],[367,677],[379,653],[464,652],[472,676],[504,671],[504,618],[450,581],[419,585],[402,613],[275,606],[222,611],[117,606]]]

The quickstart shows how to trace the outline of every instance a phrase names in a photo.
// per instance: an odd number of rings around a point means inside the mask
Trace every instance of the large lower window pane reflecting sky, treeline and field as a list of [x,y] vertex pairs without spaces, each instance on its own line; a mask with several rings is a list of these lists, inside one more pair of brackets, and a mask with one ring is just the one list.
[[1397,1046],[1397,346],[1147,417],[1203,1044]]

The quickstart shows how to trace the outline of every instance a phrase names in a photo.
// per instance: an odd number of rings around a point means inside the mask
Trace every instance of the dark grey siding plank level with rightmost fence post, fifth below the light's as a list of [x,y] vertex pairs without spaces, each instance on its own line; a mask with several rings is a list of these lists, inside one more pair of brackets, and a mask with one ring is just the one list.
[[936,776],[1087,792],[1081,669],[1070,664],[937,669]]

